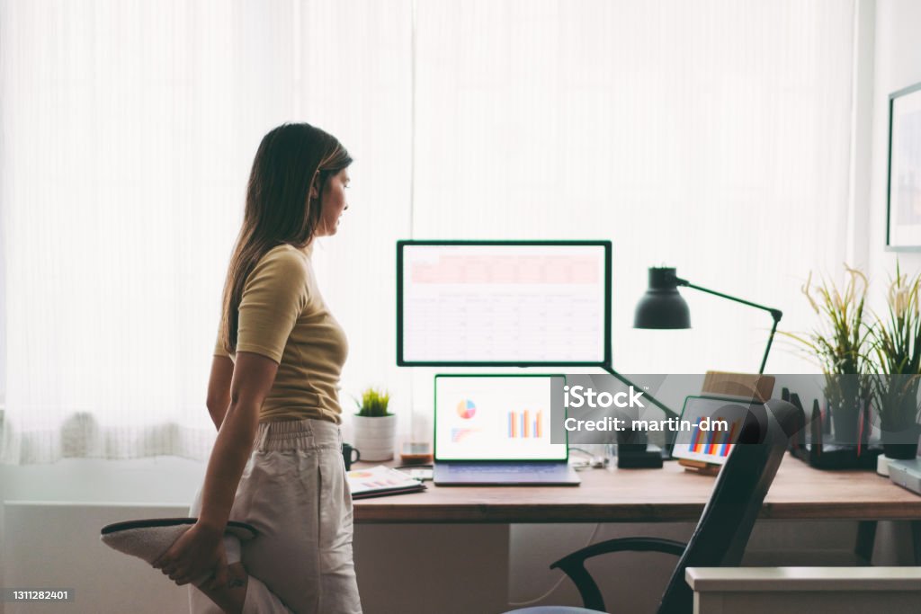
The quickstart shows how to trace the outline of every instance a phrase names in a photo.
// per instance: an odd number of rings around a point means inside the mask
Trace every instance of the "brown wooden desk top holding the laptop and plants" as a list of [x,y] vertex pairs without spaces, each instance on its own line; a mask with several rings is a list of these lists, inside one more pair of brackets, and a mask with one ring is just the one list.
[[[369,464],[370,465],[370,464]],[[663,469],[589,469],[577,487],[437,487],[355,502],[357,523],[696,521],[716,478]],[[921,496],[870,471],[820,471],[787,455],[761,517],[921,519]]]

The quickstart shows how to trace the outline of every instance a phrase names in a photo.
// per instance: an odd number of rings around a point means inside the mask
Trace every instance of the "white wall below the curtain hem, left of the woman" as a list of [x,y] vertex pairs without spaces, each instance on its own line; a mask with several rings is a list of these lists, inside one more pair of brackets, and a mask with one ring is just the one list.
[[[0,465],[0,502],[50,504],[11,506],[8,514],[0,505],[0,585],[78,589],[77,600],[62,605],[63,611],[117,611],[109,607],[133,592],[184,604],[178,587],[157,582],[161,579],[147,576],[142,562],[105,548],[99,529],[133,517],[185,516],[203,477],[204,463],[174,457]],[[55,510],[55,504],[68,507]],[[102,590],[107,578],[113,582]],[[0,612],[15,611],[0,603]]]

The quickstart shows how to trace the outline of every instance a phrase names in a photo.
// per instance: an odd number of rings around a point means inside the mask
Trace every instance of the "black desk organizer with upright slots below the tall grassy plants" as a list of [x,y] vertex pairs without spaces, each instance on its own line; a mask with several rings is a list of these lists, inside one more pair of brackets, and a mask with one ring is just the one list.
[[[802,402],[796,393],[790,394],[787,388],[782,392],[783,400],[802,409]],[[869,443],[870,420],[869,407],[860,413],[860,441],[857,444],[837,444],[834,439],[826,437],[831,434],[831,421],[826,416],[822,419],[819,400],[812,401],[812,413],[806,427],[790,439],[790,453],[809,463],[815,469],[876,469],[876,459],[882,454],[882,446]],[[810,436],[807,440],[806,431]]]

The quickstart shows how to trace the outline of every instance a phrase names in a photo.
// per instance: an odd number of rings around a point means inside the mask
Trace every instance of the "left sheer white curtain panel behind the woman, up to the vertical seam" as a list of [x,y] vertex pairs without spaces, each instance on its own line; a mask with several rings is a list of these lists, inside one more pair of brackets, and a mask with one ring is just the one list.
[[7,461],[206,456],[227,257],[281,122],[356,158],[317,269],[346,390],[391,377],[411,25],[408,2],[372,0],[0,5]]

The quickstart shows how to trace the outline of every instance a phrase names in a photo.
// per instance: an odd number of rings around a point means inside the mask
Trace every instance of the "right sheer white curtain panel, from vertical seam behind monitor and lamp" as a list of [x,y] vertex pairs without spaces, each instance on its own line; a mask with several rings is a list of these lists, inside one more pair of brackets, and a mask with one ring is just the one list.
[[[611,238],[623,373],[754,371],[771,318],[682,291],[633,330],[647,268],[812,313],[845,259],[852,2],[430,0],[417,14],[414,232]],[[781,344],[782,345],[782,344]],[[804,365],[775,346],[768,368]]]

